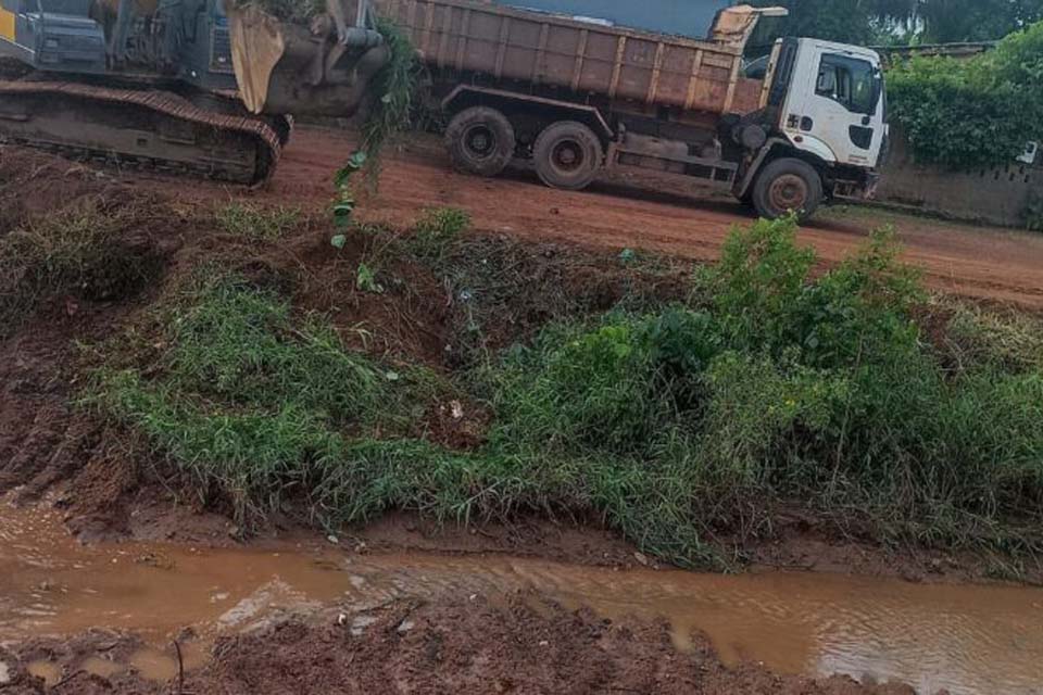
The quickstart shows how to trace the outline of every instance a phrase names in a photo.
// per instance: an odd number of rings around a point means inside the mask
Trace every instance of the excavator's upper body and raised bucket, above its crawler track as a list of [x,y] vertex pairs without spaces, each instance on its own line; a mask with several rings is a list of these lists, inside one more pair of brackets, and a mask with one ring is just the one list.
[[250,113],[348,117],[388,51],[369,0],[310,22],[238,0],[0,0],[0,55],[41,72],[239,89]]

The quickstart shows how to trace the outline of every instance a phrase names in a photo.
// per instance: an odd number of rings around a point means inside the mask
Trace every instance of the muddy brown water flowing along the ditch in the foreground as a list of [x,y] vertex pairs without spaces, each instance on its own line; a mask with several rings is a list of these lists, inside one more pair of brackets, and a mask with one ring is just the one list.
[[[156,648],[131,666],[156,680],[176,662],[163,648],[192,627],[204,637],[249,629],[285,610],[355,606],[442,591],[533,587],[606,617],[666,618],[683,649],[706,633],[724,660],[780,672],[900,680],[954,695],[1043,693],[1043,591],[914,585],[829,574],[721,577],[613,571],[530,559],[348,556],[330,545],[201,549],[156,544],[81,546],[53,513],[0,506],[0,642],[91,627],[137,632]],[[186,655],[189,668],[202,649]],[[81,665],[112,674],[127,665]],[[60,677],[51,665],[39,675]]]

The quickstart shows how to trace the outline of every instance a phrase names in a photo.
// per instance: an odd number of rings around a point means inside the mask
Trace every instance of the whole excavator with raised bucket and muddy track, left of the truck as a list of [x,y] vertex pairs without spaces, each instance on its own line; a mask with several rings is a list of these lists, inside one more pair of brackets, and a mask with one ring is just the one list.
[[353,115],[389,61],[369,0],[323,4],[0,0],[0,142],[260,185],[293,117]]

